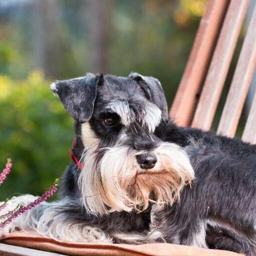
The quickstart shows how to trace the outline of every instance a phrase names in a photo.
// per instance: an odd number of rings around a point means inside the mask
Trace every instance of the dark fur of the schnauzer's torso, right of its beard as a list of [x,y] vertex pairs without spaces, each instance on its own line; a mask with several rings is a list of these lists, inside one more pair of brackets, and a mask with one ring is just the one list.
[[254,255],[256,147],[238,139],[177,127],[172,121],[167,126],[164,140],[191,146],[196,178],[192,190],[186,187],[181,200],[169,208],[168,218],[166,210],[159,213],[158,227],[168,234],[165,239],[172,242],[172,236],[182,230],[181,243],[186,244],[198,223],[211,218],[226,228],[207,224],[210,248]]

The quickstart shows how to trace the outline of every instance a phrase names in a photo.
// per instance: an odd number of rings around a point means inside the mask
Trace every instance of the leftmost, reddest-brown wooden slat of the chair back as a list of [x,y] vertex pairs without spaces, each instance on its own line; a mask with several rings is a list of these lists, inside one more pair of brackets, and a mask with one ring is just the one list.
[[178,125],[190,125],[229,0],[209,0],[170,110]]

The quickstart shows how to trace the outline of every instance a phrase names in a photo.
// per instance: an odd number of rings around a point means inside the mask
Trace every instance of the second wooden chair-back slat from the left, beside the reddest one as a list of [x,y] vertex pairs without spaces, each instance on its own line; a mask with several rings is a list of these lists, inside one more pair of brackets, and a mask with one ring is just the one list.
[[212,57],[192,127],[209,130],[219,102],[248,0],[231,0]]

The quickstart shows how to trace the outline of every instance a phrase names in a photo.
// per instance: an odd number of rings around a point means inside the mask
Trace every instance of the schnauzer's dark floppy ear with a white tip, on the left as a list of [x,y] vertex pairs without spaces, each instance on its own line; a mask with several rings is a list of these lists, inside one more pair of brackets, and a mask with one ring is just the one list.
[[102,83],[102,74],[89,74],[52,83],[51,90],[59,97],[65,109],[75,120],[86,122],[92,116],[97,86]]

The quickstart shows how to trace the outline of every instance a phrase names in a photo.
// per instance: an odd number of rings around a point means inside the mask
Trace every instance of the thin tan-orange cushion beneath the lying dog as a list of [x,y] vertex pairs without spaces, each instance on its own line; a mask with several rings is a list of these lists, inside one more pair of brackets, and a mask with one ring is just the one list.
[[69,255],[154,255],[154,256],[237,256],[238,253],[203,249],[170,243],[150,243],[141,245],[130,244],[97,244],[97,243],[68,243],[43,237],[34,232],[14,232],[2,240],[4,243],[29,247],[34,249],[65,253]]

